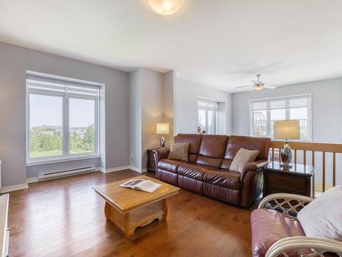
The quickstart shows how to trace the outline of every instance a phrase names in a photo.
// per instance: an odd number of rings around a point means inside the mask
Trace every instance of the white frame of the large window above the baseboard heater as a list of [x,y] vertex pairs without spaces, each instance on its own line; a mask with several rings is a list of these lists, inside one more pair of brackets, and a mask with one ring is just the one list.
[[[63,95],[58,93],[43,93],[37,90],[36,92],[33,90],[28,89],[27,86],[27,76],[36,76],[40,79],[57,79],[65,84],[79,84],[83,88],[98,88],[98,95],[97,97],[86,97],[86,96],[75,96],[75,95]],[[25,88],[26,88],[26,165],[34,166],[40,164],[50,164],[56,162],[66,162],[69,160],[86,160],[92,158],[100,158],[100,90],[101,86],[104,84],[99,84],[96,82],[88,82],[81,79],[72,79],[68,77],[60,77],[55,75],[49,75],[45,73],[36,73],[27,71],[26,79],[25,79]],[[62,98],[62,155],[61,156],[46,156],[46,157],[39,157],[39,158],[29,158],[29,106],[30,106],[30,95],[44,95],[44,96],[51,96],[51,97],[61,97]],[[69,103],[70,99],[92,99],[94,100],[94,152],[87,153],[87,154],[70,154],[70,142],[69,142]]]

